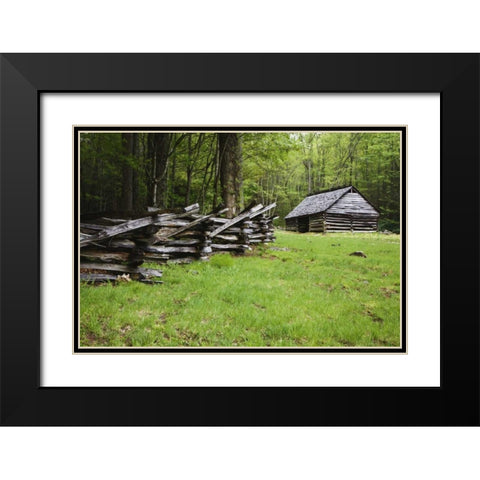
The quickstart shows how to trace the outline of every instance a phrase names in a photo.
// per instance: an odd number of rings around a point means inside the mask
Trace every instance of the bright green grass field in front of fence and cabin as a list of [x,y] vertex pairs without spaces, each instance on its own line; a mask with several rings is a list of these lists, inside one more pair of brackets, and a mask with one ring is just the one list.
[[165,265],[164,284],[82,284],[80,345],[400,345],[399,235],[276,235],[244,256]]

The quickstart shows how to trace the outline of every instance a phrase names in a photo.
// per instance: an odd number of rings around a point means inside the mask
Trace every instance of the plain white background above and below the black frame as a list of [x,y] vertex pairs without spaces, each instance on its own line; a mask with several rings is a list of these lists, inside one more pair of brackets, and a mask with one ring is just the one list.
[[[471,0],[3,2],[3,52],[479,52]],[[7,479],[478,478],[480,429],[4,428]]]

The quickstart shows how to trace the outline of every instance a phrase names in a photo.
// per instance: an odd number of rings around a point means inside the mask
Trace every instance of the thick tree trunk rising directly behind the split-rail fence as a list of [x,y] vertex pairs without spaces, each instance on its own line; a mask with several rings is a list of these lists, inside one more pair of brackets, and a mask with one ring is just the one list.
[[242,150],[238,133],[219,133],[220,184],[227,216],[235,217],[241,210]]

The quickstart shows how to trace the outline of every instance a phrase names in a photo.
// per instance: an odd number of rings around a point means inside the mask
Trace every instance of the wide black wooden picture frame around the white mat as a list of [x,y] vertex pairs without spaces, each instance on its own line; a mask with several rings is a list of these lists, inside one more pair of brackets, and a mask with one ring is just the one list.
[[[479,425],[479,65],[477,54],[1,55],[1,425]],[[441,386],[41,387],[42,92],[438,92]]]

